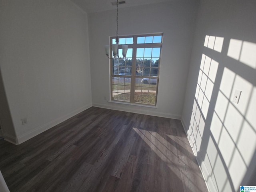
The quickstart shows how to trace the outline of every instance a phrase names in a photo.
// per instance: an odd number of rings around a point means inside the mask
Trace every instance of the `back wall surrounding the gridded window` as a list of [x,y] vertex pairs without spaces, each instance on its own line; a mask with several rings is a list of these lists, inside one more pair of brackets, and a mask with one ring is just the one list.
[[93,105],[180,118],[198,4],[181,0],[130,8],[120,7],[119,35],[164,33],[157,108],[108,102],[109,60],[104,54],[104,45],[108,44],[109,36],[116,34],[116,10],[88,14]]

